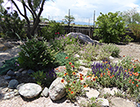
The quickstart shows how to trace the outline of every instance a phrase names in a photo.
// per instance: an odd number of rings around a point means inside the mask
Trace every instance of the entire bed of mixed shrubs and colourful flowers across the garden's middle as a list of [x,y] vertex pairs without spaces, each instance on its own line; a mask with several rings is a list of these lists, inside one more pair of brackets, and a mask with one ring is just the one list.
[[[109,50],[109,47],[113,48]],[[110,55],[114,57],[119,56],[120,51],[115,44],[106,44],[104,46],[82,44],[77,38],[63,35],[49,43],[45,40],[32,39],[25,42],[21,49],[20,58],[16,62],[19,64],[19,67],[29,69],[30,66],[33,68],[36,66],[37,69],[34,69],[35,73],[32,76],[43,87],[49,87],[56,77],[62,77],[61,82],[67,81],[68,83],[66,92],[67,98],[71,101],[75,101],[77,96],[84,95],[83,89],[85,87],[118,87],[131,97],[137,98],[139,95],[140,62],[125,56],[117,64],[110,62]],[[73,57],[76,54],[79,55],[79,58]],[[61,58],[59,58],[60,56]],[[21,61],[21,59],[27,59],[28,63]],[[77,68],[80,66],[80,63],[77,62],[79,59],[85,60],[87,63],[95,60],[100,62],[89,64],[87,67],[91,68],[92,71],[88,72],[87,75],[77,75]],[[66,72],[56,73],[54,70],[47,70],[45,68],[48,68],[48,65],[51,65],[51,67],[65,65]],[[52,75],[52,78],[47,79],[47,76],[51,77],[50,75]],[[83,83],[85,79],[86,81]]]

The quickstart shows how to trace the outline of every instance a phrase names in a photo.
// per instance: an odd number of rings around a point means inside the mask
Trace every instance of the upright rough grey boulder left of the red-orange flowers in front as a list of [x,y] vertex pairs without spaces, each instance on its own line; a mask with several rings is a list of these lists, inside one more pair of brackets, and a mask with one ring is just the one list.
[[53,101],[60,100],[66,95],[65,85],[67,83],[65,80],[62,83],[61,80],[60,77],[56,78],[49,87],[49,96]]

